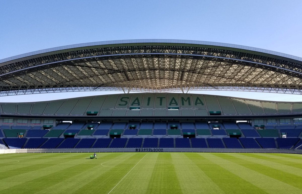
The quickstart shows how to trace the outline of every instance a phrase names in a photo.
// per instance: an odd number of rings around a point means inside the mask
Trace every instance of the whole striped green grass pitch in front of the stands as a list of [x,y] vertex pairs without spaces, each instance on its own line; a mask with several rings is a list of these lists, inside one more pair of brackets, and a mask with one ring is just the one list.
[[302,155],[91,154],[2,154],[0,193],[302,193]]

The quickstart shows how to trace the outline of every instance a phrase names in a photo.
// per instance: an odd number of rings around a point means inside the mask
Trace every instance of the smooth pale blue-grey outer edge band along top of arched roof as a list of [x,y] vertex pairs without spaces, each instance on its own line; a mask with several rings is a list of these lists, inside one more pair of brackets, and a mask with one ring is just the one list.
[[125,43],[181,43],[181,44],[222,46],[222,47],[244,49],[244,50],[249,50],[249,51],[256,51],[256,52],[272,54],[272,55],[276,55],[276,56],[280,56],[280,57],[286,57],[289,59],[302,61],[302,57],[297,57],[297,56],[293,56],[290,54],[284,54],[284,53],[270,51],[270,50],[261,49],[261,48],[255,48],[255,47],[249,47],[249,46],[243,46],[243,45],[234,45],[234,44],[228,44],[228,43],[196,41],[196,40],[177,40],[177,39],[135,39],[135,40],[113,40],[113,41],[101,41],[101,42],[88,42],[88,43],[81,43],[81,44],[75,44],[75,45],[66,45],[66,46],[48,48],[48,49],[33,51],[33,52],[24,53],[24,54],[16,55],[13,57],[1,59],[0,63],[20,59],[23,57],[29,57],[29,56],[36,55],[36,54],[43,54],[43,53],[47,53],[47,52],[60,51],[60,50],[70,49],[70,48],[79,48],[79,47],[96,46],[96,45],[125,44]]

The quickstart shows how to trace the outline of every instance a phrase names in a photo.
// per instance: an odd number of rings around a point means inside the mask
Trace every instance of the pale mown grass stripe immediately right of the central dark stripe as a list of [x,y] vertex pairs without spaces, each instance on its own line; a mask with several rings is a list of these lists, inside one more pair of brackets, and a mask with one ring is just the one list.
[[[224,193],[196,164],[195,153],[171,153],[183,193]],[[191,156],[191,157],[190,157]]]

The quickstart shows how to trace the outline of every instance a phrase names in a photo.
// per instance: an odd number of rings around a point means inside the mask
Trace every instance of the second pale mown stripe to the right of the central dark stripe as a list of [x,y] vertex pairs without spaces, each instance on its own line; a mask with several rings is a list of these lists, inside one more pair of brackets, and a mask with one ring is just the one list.
[[[247,161],[237,164],[236,161],[239,159],[229,160],[230,157],[228,155],[229,154],[223,154],[223,153],[209,153],[207,154],[207,158],[210,161],[216,163],[217,165],[220,165],[221,167],[225,168],[226,170],[231,171],[237,176],[242,177],[243,179],[254,184],[255,186],[258,186],[259,188],[265,190],[266,192],[302,193],[302,190],[298,189],[297,187],[294,187],[278,179],[267,176],[263,174],[263,171],[257,171],[258,164],[254,164],[254,165],[248,164]],[[247,165],[244,165],[245,162]],[[250,169],[252,167],[253,169]],[[266,170],[263,169],[263,170],[268,171],[268,173],[274,173],[271,172],[271,169],[266,169]]]

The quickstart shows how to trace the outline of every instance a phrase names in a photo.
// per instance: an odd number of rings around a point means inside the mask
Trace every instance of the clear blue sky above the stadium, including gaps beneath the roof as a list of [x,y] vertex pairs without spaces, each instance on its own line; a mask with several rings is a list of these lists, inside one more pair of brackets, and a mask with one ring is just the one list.
[[[301,8],[301,0],[2,0],[0,59],[57,46],[124,39],[223,42],[302,57]],[[261,100],[302,101],[301,95],[222,93]],[[79,95],[87,92],[0,97],[0,102]]]

